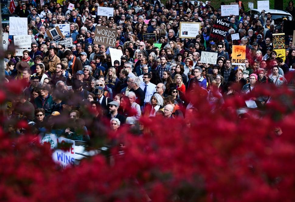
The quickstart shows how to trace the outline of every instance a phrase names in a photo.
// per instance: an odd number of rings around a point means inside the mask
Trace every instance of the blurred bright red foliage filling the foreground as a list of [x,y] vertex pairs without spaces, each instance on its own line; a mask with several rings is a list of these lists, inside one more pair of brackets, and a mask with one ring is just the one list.
[[185,121],[143,119],[147,134],[116,134],[125,148],[112,163],[97,155],[64,170],[49,146],[1,129],[0,201],[294,201],[295,113],[280,100],[293,94],[276,92],[260,119],[237,117],[241,98],[213,113],[202,104]]

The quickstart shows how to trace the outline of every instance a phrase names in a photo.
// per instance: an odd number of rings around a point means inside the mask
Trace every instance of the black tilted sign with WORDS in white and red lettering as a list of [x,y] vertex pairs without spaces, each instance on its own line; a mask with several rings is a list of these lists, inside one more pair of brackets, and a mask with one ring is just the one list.
[[223,40],[229,26],[230,26],[230,23],[227,20],[217,18],[212,27],[210,38],[212,37],[213,39],[216,39],[219,41]]

